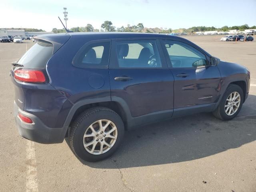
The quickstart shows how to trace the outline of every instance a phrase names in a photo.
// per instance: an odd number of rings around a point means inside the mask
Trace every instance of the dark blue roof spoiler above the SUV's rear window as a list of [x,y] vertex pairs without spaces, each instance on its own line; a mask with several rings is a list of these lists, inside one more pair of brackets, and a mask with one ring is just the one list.
[[65,34],[44,34],[34,37],[36,41],[46,41],[53,44],[53,51],[54,54],[57,50],[59,50],[68,40],[70,39],[70,35]]

